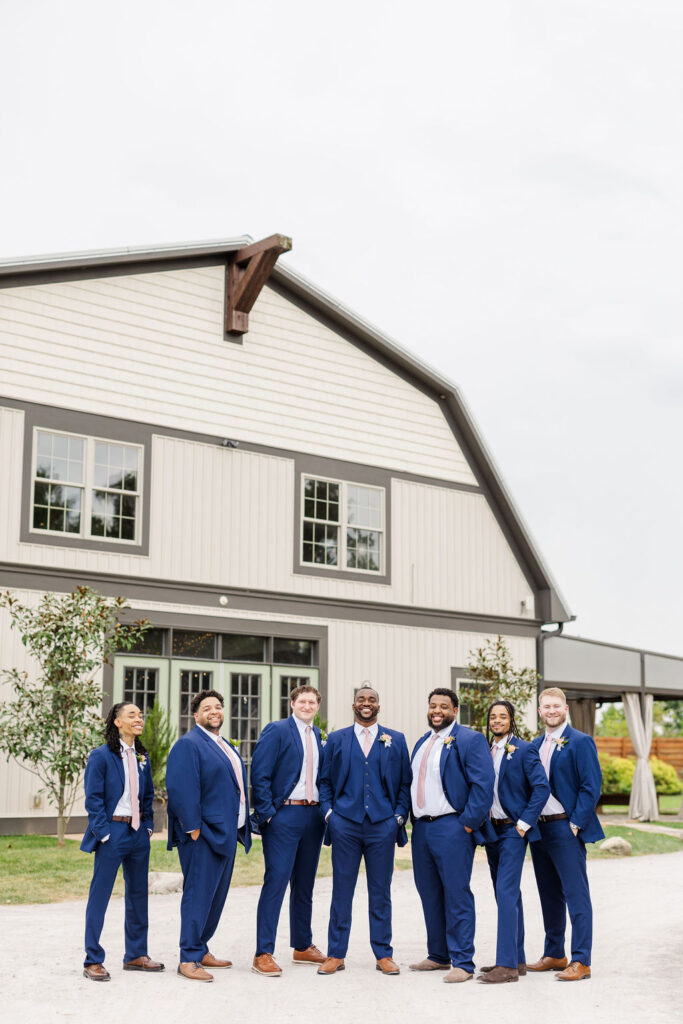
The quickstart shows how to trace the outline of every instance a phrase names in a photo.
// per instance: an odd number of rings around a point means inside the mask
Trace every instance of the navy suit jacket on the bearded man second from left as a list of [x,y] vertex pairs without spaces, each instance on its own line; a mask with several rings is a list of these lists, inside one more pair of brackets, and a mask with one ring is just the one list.
[[[236,754],[246,795],[247,772],[239,752]],[[238,840],[249,850],[249,813],[246,824],[238,830],[240,787],[232,766],[203,729],[196,726],[173,744],[166,767],[166,788],[169,850],[191,842],[187,833],[196,828],[201,828],[204,839],[220,856],[231,856]]]

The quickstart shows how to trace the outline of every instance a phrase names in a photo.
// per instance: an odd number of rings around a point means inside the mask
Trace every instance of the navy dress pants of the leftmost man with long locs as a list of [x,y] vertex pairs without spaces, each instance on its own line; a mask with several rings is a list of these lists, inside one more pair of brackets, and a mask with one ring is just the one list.
[[147,872],[150,869],[150,834],[140,825],[133,831],[125,821],[112,821],[106,843],[95,848],[95,863],[85,910],[85,962],[103,964],[104,950],[99,944],[104,914],[119,867],[123,864],[126,887],[126,947],[124,964],[147,955]]

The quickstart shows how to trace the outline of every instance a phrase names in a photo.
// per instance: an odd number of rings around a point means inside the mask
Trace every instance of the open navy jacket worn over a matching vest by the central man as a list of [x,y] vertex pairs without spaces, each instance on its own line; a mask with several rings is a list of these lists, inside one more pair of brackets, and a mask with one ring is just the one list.
[[[380,736],[383,733],[391,736],[390,743],[380,741]],[[351,743],[357,742],[352,725],[346,729],[336,729],[328,737],[321,768],[319,784],[324,816],[327,816],[328,811],[334,808],[337,794],[344,788],[351,764]],[[380,725],[375,742],[379,744],[380,778],[372,778],[371,787],[378,784],[383,785],[393,808],[393,813],[408,818],[411,810],[411,762],[408,756],[405,736],[402,732],[385,729],[383,725]],[[398,846],[405,846],[408,843],[405,825],[401,825],[398,829],[396,843]],[[325,844],[326,846],[330,845],[327,833]]]

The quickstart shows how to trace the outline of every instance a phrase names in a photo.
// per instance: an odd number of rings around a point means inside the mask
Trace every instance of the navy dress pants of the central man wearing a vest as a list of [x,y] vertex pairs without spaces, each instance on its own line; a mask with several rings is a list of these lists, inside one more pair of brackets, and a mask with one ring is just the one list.
[[328,818],[332,841],[332,903],[328,930],[328,956],[343,959],[351,931],[353,892],[360,858],[366,862],[370,944],[376,959],[392,956],[391,876],[398,825],[392,816],[358,824],[332,812]]

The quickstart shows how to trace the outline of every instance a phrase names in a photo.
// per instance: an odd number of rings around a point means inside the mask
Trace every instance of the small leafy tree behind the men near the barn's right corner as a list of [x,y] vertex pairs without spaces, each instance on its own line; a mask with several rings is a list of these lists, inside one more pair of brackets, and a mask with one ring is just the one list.
[[521,723],[526,706],[533,699],[541,678],[533,669],[515,669],[503,637],[487,640],[483,647],[470,651],[467,669],[469,679],[463,703],[470,712],[474,729],[486,731],[486,713],[494,700],[502,698],[513,705],[517,725],[523,739],[531,733]]

